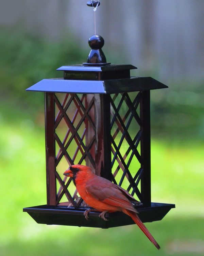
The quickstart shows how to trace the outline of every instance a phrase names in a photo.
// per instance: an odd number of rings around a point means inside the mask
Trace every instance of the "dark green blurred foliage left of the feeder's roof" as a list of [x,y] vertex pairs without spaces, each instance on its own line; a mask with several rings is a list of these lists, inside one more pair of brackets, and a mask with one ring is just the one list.
[[5,95],[31,109],[42,105],[43,93],[26,92],[26,88],[45,78],[61,77],[56,71],[63,65],[79,64],[86,54],[71,35],[51,42],[13,29],[0,33],[1,97]]

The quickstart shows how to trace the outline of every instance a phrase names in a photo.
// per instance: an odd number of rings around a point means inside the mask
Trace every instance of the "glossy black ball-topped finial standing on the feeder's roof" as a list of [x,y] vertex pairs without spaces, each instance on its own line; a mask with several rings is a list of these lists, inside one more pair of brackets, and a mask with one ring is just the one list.
[[101,35],[92,35],[88,40],[88,44],[91,47],[91,51],[88,55],[87,62],[83,63],[83,65],[102,66],[111,64],[106,62],[105,54],[101,49],[104,45],[104,39]]

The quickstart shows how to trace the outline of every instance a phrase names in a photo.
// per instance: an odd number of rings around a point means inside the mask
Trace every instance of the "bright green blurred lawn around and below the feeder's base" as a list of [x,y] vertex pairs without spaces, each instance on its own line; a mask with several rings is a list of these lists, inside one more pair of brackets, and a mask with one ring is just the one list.
[[[44,128],[27,111],[14,114],[14,122],[5,112],[0,122],[0,255],[158,254],[135,225],[108,230],[46,226],[23,213],[23,207],[46,203]],[[152,140],[152,201],[176,204],[164,220],[146,224],[161,255],[203,255],[203,148]]]

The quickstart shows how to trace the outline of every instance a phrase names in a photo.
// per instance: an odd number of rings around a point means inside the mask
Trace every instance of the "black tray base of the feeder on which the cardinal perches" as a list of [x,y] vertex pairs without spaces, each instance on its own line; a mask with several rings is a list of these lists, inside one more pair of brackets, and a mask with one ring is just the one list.
[[[171,210],[175,204],[151,203],[151,207],[136,208],[142,222],[160,221]],[[90,212],[89,220],[84,217],[86,209],[67,208],[65,206],[55,207],[51,205],[39,205],[23,208],[37,223],[47,225],[66,225],[79,227],[112,228],[135,224],[128,215],[115,212],[106,213],[108,221],[99,218],[100,212]]]

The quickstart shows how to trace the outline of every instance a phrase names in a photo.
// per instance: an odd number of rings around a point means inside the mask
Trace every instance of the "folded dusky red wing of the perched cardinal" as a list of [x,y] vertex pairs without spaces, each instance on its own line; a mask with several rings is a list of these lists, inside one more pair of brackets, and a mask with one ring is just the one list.
[[101,183],[97,183],[97,185],[96,183],[88,184],[86,186],[86,192],[91,197],[94,197],[103,203],[137,213],[129,199],[123,194],[118,186],[112,182],[107,181],[106,183],[102,181]]

